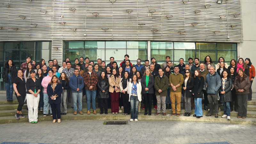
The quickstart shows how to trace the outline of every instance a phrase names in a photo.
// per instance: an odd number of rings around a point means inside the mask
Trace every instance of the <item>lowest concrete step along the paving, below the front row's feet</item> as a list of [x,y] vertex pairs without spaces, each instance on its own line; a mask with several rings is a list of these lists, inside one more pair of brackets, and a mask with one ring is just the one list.
[[[73,115],[73,114],[67,114],[65,116],[61,116],[61,121],[63,120],[126,120],[129,121],[131,118],[131,115],[122,115],[121,113],[117,115],[112,115],[111,113],[108,113],[108,115],[103,114],[84,114],[84,115]],[[236,116],[231,116],[231,120],[227,120],[227,118],[215,118],[214,116],[203,116],[201,118],[196,118],[193,116],[171,116],[171,113],[166,113],[166,116],[158,115],[158,116],[144,116],[144,115],[138,115],[138,120],[176,120],[176,121],[198,121],[198,122],[220,122],[220,123],[233,123],[233,124],[252,124],[256,125],[256,118],[236,118]],[[52,123],[52,117],[46,116],[43,117],[43,115],[38,115],[38,122],[41,121],[49,121],[49,123]],[[0,124],[6,124],[6,123],[25,123],[28,122],[28,116],[26,115],[26,118],[20,118],[16,119],[15,116],[1,116],[0,117]],[[57,124],[57,123],[56,123]]]

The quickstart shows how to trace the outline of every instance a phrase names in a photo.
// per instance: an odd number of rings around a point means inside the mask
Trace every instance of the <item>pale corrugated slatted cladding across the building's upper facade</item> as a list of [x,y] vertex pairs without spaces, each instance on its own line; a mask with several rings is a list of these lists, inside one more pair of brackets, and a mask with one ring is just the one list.
[[65,40],[243,41],[241,0],[1,0],[0,27],[0,41],[51,40],[58,60]]

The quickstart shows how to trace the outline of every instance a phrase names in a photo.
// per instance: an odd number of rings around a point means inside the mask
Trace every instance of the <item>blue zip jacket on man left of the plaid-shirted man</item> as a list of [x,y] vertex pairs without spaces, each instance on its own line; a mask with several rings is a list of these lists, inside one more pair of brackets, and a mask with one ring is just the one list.
[[[76,77],[74,74],[69,78],[69,87],[72,89],[72,92],[83,92],[84,78],[80,75]],[[79,88],[79,91],[76,91],[77,88]]]

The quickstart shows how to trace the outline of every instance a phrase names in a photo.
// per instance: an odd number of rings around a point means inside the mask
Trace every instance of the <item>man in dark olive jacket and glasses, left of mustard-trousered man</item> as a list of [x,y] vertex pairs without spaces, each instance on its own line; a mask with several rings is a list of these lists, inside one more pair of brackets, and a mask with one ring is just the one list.
[[154,87],[156,89],[156,100],[157,100],[157,113],[155,114],[160,115],[160,108],[161,108],[161,101],[162,101],[162,108],[163,108],[163,116],[166,116],[166,105],[165,99],[167,96],[167,88],[169,87],[169,79],[167,76],[164,76],[164,71],[162,68],[158,70],[158,76],[154,79]]

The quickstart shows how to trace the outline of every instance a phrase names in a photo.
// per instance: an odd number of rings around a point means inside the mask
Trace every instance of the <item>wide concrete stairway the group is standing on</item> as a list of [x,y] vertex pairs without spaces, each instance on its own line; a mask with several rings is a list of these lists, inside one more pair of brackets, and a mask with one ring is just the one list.
[[[15,113],[17,111],[18,107],[18,101],[14,100],[12,102],[7,101],[0,101],[0,124],[6,124],[6,123],[21,123],[21,122],[28,122],[28,110],[27,110],[27,104],[25,103],[22,107],[22,114],[26,116],[26,118],[15,118]],[[157,112],[152,106],[152,116],[144,116],[145,110],[142,108],[144,107],[144,104],[141,104],[140,109],[140,115],[138,115],[139,120],[177,120],[177,121],[204,121],[204,122],[221,122],[221,123],[233,123],[233,124],[252,124],[256,125],[256,102],[255,101],[248,101],[247,106],[247,118],[236,118],[237,112],[232,111],[231,112],[231,120],[227,120],[227,118],[221,118],[223,115],[223,106],[219,103],[219,118],[215,118],[214,116],[206,117],[205,115],[209,113],[208,111],[204,110],[204,105],[202,105],[203,108],[203,117],[196,118],[193,117],[194,110],[191,112],[191,116],[183,116],[185,113],[185,110],[180,111],[180,116],[171,116],[172,110],[166,109],[166,116],[162,115],[162,109],[161,109],[161,115],[155,116],[154,114]],[[182,107],[182,103],[181,103]],[[122,113],[124,109],[121,109]],[[83,99],[83,109],[82,109],[84,115],[73,115],[74,110],[71,109],[70,104],[68,104],[68,112],[67,115],[61,116],[61,120],[129,120],[131,118],[131,115],[122,115],[122,113],[112,115],[111,109],[108,109],[108,115],[103,113],[100,115],[100,108],[98,108],[97,100],[96,100],[96,112],[97,115],[94,115],[92,113],[92,105],[91,105],[91,114],[87,115],[87,104],[85,99]],[[49,113],[50,114],[50,113]],[[46,117],[43,117],[43,112],[38,111],[38,122],[40,121],[52,121],[52,117],[50,115],[47,115]]]

